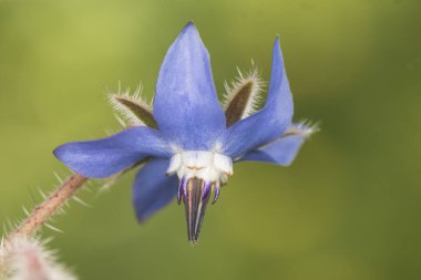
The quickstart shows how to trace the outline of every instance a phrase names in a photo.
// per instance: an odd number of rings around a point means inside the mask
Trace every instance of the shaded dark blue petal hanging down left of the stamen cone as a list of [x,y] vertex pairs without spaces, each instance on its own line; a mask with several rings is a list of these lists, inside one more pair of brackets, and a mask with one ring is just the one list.
[[177,195],[177,176],[166,177],[166,159],[152,159],[137,173],[133,185],[133,205],[137,219],[144,221]]

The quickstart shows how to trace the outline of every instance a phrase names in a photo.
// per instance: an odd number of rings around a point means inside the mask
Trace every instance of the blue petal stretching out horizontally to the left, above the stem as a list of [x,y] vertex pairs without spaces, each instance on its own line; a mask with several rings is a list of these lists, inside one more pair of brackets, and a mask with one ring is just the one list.
[[102,139],[68,143],[58,147],[54,155],[89,178],[109,177],[148,156],[171,156],[160,132],[144,126]]

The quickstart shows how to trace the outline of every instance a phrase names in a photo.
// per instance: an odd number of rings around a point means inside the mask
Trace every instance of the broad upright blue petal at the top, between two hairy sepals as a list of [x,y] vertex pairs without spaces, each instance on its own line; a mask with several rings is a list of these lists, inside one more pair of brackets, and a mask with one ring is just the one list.
[[185,149],[212,148],[225,129],[209,54],[192,22],[166,53],[156,83],[153,114],[160,131]]

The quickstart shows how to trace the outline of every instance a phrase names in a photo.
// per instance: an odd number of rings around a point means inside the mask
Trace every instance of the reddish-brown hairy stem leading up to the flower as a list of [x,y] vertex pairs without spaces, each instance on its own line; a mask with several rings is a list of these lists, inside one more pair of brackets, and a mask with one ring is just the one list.
[[20,226],[12,231],[7,240],[13,240],[16,237],[30,237],[42,225],[48,221],[72,196],[83,186],[88,180],[79,174],[70,176],[45,201],[35,207],[35,209],[28,216]]

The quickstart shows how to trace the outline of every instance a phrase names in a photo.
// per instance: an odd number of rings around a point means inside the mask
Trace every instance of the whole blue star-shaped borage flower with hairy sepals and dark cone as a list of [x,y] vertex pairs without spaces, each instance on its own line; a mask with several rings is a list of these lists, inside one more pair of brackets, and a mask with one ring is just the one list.
[[137,96],[112,95],[112,103],[132,125],[113,136],[74,142],[54,151],[70,169],[104,178],[138,166],[133,203],[140,221],[174,197],[183,200],[188,240],[196,242],[206,206],[233,175],[235,162],[289,165],[314,132],[292,124],[292,97],[275,40],[269,90],[257,111],[260,80],[256,71],[240,74],[222,106],[215,91],[209,55],[189,22],[170,48],[161,66],[153,111]]

